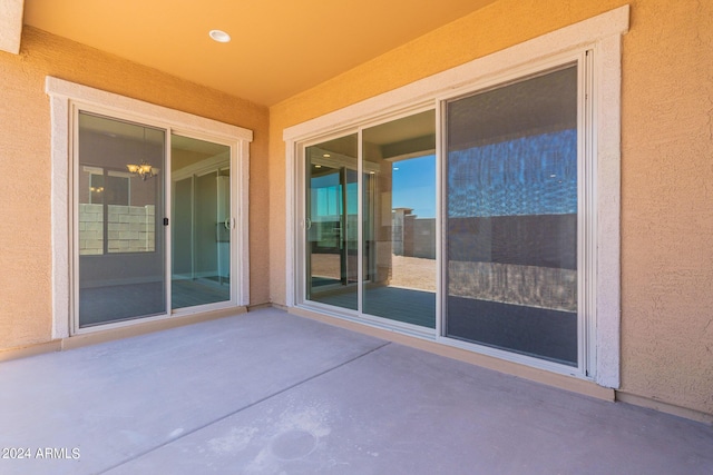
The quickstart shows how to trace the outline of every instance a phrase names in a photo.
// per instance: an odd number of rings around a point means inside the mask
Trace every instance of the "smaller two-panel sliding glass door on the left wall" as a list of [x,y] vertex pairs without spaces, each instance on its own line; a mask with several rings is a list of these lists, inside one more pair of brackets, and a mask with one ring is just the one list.
[[76,120],[75,328],[235,304],[233,148]]

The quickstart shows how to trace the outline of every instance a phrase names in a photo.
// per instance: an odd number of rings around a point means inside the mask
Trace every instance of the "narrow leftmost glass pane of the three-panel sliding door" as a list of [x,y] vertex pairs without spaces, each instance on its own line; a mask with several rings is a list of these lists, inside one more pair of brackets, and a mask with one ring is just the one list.
[[358,308],[356,135],[305,149],[306,298]]

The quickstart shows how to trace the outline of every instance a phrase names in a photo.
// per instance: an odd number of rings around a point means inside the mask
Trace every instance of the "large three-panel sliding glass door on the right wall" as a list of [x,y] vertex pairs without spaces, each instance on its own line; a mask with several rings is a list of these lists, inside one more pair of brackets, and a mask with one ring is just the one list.
[[304,147],[300,303],[489,355],[582,368],[592,202],[582,178],[582,63]]

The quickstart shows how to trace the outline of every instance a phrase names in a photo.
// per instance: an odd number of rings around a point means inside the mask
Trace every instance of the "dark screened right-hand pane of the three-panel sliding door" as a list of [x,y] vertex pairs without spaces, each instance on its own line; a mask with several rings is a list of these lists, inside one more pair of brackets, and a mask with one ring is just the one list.
[[577,365],[577,67],[447,108],[449,337]]

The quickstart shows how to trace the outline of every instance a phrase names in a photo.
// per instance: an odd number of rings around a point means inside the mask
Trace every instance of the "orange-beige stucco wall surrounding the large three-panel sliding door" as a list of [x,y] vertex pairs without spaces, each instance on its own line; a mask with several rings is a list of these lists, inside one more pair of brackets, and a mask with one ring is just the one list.
[[282,132],[631,4],[623,39],[622,393],[713,414],[713,2],[499,0],[271,108],[271,298],[285,303]]

